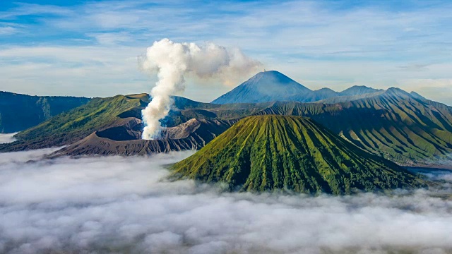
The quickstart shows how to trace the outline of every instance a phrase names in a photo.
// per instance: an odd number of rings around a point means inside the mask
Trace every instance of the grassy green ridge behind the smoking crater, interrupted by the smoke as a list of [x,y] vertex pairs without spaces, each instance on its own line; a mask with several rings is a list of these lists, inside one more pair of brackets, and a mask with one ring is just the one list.
[[[171,127],[189,119],[217,119],[217,109],[222,119],[234,119],[242,114],[252,114],[268,105],[249,104],[208,104],[194,102],[184,97],[173,97],[174,110],[165,119],[164,125]],[[37,149],[58,145],[68,145],[81,138],[114,125],[119,119],[136,117],[141,119],[141,110],[148,104],[148,94],[117,95],[95,98],[82,107],[59,114],[48,121],[22,131],[16,135],[15,143],[0,144],[0,152]],[[210,111],[208,111],[210,110]]]

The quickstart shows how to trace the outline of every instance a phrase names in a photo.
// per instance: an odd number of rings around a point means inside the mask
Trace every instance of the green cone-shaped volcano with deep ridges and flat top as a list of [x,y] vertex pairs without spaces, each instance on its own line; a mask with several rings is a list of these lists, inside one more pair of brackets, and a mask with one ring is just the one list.
[[423,184],[397,164],[300,116],[246,117],[172,169],[175,179],[222,182],[241,191],[337,195]]

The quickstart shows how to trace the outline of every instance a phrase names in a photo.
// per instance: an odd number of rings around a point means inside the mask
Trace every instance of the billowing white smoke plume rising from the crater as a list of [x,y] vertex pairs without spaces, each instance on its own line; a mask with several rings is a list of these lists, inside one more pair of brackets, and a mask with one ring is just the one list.
[[185,75],[218,78],[226,85],[237,76],[256,71],[261,63],[245,56],[239,49],[206,43],[177,43],[168,39],[154,42],[139,64],[143,71],[157,72],[158,81],[150,92],[148,107],[143,109],[143,139],[153,139],[160,131],[160,119],[167,116],[171,95],[184,92]]

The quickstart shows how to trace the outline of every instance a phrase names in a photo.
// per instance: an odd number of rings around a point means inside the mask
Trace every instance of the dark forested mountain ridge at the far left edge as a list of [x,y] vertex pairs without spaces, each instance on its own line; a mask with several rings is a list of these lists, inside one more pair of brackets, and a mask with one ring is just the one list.
[[85,97],[30,96],[0,91],[0,133],[23,131],[89,101]]

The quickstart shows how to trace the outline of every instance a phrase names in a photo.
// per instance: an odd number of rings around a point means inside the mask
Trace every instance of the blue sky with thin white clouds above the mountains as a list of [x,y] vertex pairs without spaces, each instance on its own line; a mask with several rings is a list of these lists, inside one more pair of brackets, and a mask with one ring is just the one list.
[[[450,1],[4,0],[0,90],[148,92],[136,57],[167,37],[239,47],[311,89],[395,86],[452,105],[451,28]],[[188,80],[184,95],[230,89]]]

